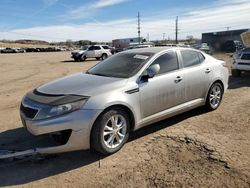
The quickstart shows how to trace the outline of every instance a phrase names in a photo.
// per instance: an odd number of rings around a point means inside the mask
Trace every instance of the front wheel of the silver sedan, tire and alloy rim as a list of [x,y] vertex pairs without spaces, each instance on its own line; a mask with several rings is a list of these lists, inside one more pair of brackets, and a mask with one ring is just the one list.
[[126,111],[112,108],[96,120],[91,132],[91,148],[110,155],[119,151],[129,137],[130,121]]

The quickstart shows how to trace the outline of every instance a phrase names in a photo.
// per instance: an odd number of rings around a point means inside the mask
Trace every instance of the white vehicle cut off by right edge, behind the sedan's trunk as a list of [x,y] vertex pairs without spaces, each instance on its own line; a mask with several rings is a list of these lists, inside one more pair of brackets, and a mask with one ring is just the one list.
[[239,77],[243,71],[250,71],[250,50],[248,49],[236,54],[232,64],[233,76]]

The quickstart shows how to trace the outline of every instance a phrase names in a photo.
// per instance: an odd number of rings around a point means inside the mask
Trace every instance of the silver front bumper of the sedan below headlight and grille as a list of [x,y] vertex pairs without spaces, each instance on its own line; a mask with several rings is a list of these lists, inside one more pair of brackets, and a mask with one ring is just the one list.
[[54,118],[31,120],[26,118],[21,112],[21,118],[24,126],[33,135],[53,134],[58,131],[72,130],[65,144],[37,148],[39,153],[50,154],[89,149],[91,128],[100,113],[101,110],[77,110]]

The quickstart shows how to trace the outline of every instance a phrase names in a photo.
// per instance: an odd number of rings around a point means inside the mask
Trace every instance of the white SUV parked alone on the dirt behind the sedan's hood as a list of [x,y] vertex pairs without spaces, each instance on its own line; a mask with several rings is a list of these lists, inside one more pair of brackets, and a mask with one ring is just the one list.
[[71,57],[75,61],[85,61],[87,58],[96,58],[105,60],[111,56],[111,50],[107,45],[84,46],[80,51],[72,52]]

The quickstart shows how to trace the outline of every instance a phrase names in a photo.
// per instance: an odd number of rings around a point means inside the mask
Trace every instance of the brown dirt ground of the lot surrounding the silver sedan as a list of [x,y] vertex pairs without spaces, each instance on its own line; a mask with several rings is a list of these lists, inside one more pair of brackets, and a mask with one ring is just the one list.
[[[219,54],[230,66],[229,55]],[[0,149],[29,148],[19,104],[29,90],[85,71],[69,52],[0,54]],[[133,133],[118,153],[78,151],[0,161],[0,186],[250,187],[250,75],[230,77],[220,108],[199,108]]]

